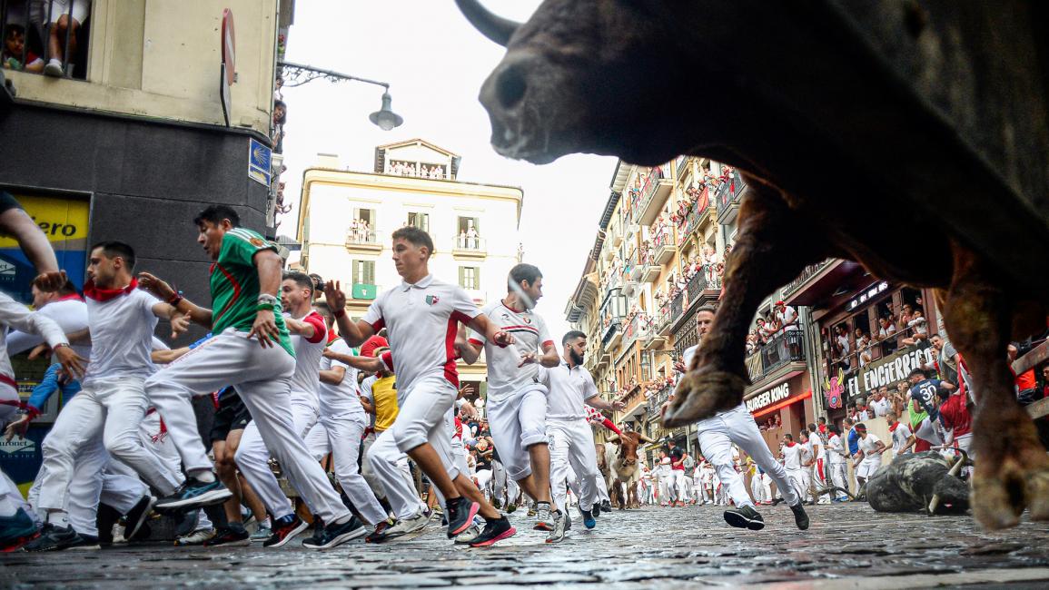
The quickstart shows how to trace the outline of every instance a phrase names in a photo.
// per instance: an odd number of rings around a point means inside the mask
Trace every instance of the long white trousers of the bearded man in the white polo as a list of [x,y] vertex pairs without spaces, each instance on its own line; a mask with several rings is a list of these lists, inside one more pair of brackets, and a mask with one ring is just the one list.
[[597,471],[594,432],[590,423],[585,418],[550,419],[547,422],[547,435],[550,440],[550,485],[554,502],[558,509],[565,509],[564,485],[569,481],[571,467],[579,478],[579,508],[590,510],[597,500],[595,482],[600,475]]

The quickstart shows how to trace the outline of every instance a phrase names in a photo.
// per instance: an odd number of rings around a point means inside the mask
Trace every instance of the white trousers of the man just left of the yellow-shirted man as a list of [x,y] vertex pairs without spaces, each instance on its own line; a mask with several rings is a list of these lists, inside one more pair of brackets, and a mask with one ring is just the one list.
[[363,412],[343,413],[337,416],[321,416],[321,424],[327,434],[331,445],[331,460],[335,464],[335,477],[339,480],[342,490],[349,501],[357,506],[358,511],[370,525],[377,525],[386,520],[386,510],[376,499],[376,495],[364,481],[357,464],[361,452],[361,436],[367,427]]

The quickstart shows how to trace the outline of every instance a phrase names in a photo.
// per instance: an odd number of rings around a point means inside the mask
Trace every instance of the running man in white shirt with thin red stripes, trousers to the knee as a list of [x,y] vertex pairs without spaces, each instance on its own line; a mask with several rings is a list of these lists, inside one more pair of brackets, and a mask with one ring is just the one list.
[[[538,366],[557,367],[557,348],[542,316],[534,308],[542,298],[542,274],[531,264],[518,264],[507,278],[507,297],[486,305],[481,312],[499,330],[513,334],[513,346],[500,347],[473,331],[455,348],[463,360],[474,364],[484,350],[488,363],[488,422],[499,462],[507,475],[536,501],[536,530],[552,530],[550,506],[550,447],[547,442],[547,388],[536,383]],[[542,356],[537,356],[537,351]],[[478,458],[479,458],[478,452]]]

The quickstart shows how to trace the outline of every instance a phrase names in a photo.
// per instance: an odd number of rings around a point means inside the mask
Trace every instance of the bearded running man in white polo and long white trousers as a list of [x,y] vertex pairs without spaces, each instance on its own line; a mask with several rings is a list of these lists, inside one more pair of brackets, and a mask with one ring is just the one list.
[[557,509],[564,519],[555,519],[548,543],[560,543],[571,526],[564,486],[569,469],[579,478],[579,512],[583,526],[594,528],[597,520],[592,509],[598,500],[597,452],[594,431],[586,418],[585,406],[598,410],[622,410],[622,401],[601,399],[594,377],[583,367],[586,356],[586,334],[572,330],[561,338],[564,357],[553,369],[541,368],[538,380],[550,389],[547,397],[547,436],[550,438],[550,484]]

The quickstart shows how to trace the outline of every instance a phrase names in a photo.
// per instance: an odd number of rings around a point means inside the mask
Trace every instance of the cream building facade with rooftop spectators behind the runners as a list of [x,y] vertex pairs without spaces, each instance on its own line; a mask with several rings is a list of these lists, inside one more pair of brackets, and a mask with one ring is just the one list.
[[[478,305],[504,297],[518,262],[518,188],[463,182],[459,156],[423,139],[376,148],[371,172],[339,168],[321,156],[303,174],[299,266],[346,291],[346,312],[361,316],[383,289],[401,283],[390,260],[391,235],[414,225],[430,234],[432,274],[465,288]],[[459,367],[485,390],[484,365]]]

